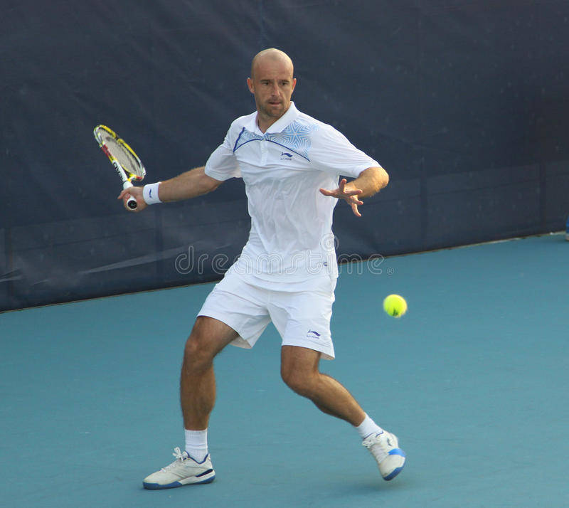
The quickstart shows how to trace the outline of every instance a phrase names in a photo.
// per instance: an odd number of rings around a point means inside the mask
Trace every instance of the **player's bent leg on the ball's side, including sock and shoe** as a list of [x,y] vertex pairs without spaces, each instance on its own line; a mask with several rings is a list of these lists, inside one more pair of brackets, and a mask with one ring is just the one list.
[[392,480],[405,464],[398,439],[376,425],[336,379],[318,369],[320,352],[301,346],[282,346],[281,376],[293,391],[309,398],[321,411],[351,423],[362,444],[376,459],[384,480]]

